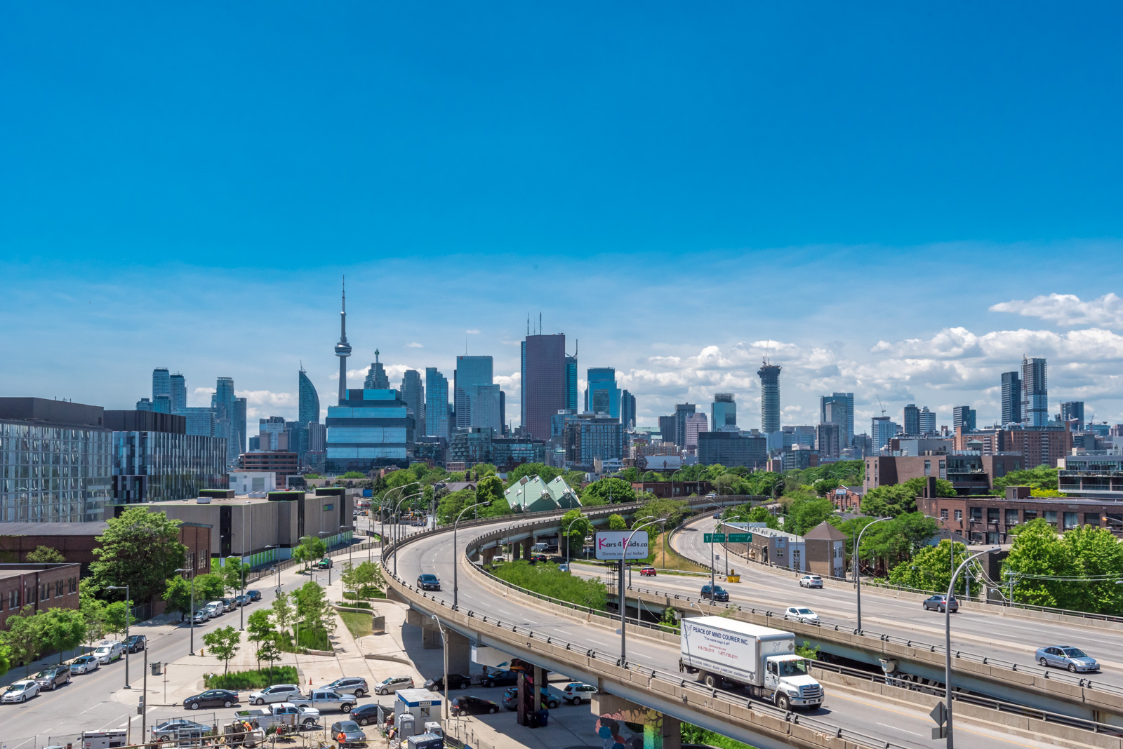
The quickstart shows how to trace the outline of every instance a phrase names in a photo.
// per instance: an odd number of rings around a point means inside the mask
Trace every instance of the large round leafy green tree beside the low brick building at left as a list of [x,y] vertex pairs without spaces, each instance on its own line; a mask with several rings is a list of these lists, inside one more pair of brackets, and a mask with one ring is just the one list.
[[97,558],[86,583],[93,592],[109,585],[128,585],[135,600],[152,603],[164,592],[167,579],[184,566],[186,546],[180,543],[180,521],[164,512],[131,507],[109,518],[98,537]]

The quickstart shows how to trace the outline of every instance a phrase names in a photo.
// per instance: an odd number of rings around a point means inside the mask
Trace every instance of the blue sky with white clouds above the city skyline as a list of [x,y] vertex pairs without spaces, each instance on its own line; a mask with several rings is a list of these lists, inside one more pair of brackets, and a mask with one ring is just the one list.
[[167,366],[292,417],[346,272],[355,369],[467,343],[514,418],[541,311],[645,424],[733,390],[758,426],[765,348],[786,423],[988,422],[1023,353],[1123,422],[1120,16],[8,3],[4,395],[128,407]]

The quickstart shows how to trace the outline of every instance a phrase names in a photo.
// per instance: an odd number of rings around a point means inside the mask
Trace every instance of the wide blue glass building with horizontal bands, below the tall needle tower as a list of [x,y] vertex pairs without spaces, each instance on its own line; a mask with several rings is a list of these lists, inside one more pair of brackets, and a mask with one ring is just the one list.
[[328,406],[329,473],[409,465],[413,451],[413,417],[398,390],[347,390],[338,406]]

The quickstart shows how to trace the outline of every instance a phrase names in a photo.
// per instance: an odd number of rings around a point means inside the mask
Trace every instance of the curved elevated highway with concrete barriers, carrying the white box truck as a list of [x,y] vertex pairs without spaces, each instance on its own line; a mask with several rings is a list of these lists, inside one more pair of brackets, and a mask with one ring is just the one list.
[[[621,509],[594,508],[590,514],[600,516]],[[629,626],[628,658],[621,660],[620,636],[611,625],[597,625],[596,618],[572,609],[526,600],[489,580],[466,557],[465,549],[547,528],[556,524],[559,515],[462,526],[460,554],[456,555],[460,564],[456,611],[451,609],[451,591],[421,592],[413,585],[421,573],[437,574],[446,583],[451,580],[453,539],[447,528],[419,534],[396,549],[387,549],[387,571],[393,568],[390,554],[399,557],[399,575],[391,580],[390,588],[418,612],[416,623],[436,614],[451,632],[474,645],[494,647],[572,678],[599,684],[611,694],[757,747],[932,746],[926,738],[932,723],[910,723],[891,709],[853,710],[830,693],[824,709],[809,715],[785,713],[738,692],[706,688],[678,673],[677,637],[634,637],[631,634],[638,634],[638,628]],[[450,646],[453,649],[463,653],[465,648]],[[455,664],[450,668],[455,671]],[[973,737],[967,731],[958,740],[966,747],[995,747],[1005,741],[1001,736]],[[1024,740],[1014,743],[1037,746]]]

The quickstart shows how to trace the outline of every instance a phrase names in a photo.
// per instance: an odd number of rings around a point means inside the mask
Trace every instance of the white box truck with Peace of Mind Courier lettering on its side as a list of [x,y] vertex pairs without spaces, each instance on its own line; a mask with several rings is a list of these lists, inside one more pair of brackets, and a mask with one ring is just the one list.
[[795,635],[723,617],[694,617],[682,622],[678,671],[699,675],[706,686],[721,679],[748,687],[760,700],[784,710],[818,708],[823,687],[795,655]]

